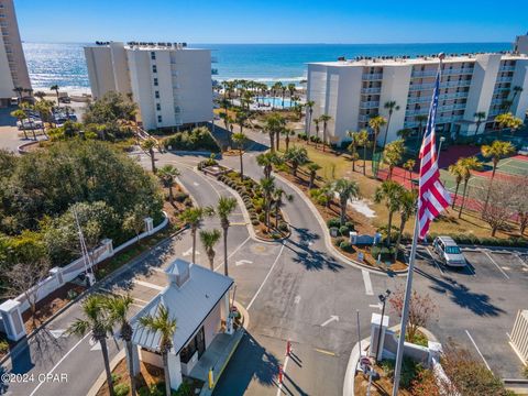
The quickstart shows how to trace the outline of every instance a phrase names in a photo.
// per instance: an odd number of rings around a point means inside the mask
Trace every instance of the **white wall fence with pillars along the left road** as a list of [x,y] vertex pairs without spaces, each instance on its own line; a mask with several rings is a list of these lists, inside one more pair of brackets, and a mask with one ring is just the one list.
[[[145,218],[145,231],[138,237],[134,237],[133,239],[124,242],[116,249],[113,249],[112,240],[102,240],[101,245],[90,252],[92,265],[96,265],[103,260],[113,256],[116,253],[122,251],[123,249],[129,248],[138,241],[164,229],[168,223],[168,217],[165,212],[163,215],[164,219],[157,227],[153,227],[152,218]],[[53,292],[64,286],[65,283],[75,279],[89,266],[90,264],[88,262],[85,262],[84,257],[80,257],[64,267],[54,267],[50,270],[50,276],[43,279],[37,286],[33,287],[33,290],[36,289],[36,301],[44,299]],[[30,295],[33,295],[32,293],[33,292],[31,292]],[[25,331],[23,331],[22,334],[23,327],[21,328],[19,322],[22,320],[22,312],[24,312],[29,308],[30,301],[28,301],[25,294],[21,294],[20,296],[13,299],[9,299],[2,305],[0,305],[0,330],[6,332],[9,339],[16,341],[25,334]]]

